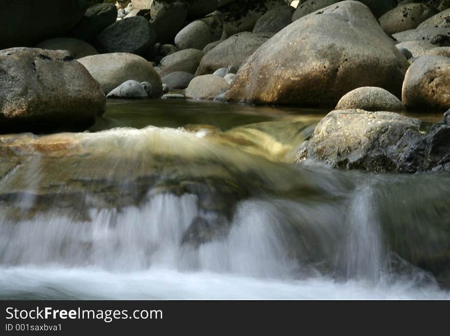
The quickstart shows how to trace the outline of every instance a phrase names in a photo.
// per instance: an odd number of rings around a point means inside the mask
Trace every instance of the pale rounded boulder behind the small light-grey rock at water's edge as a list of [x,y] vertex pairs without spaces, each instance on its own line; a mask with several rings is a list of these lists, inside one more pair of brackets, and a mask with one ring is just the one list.
[[78,61],[100,83],[105,94],[130,79],[150,83],[153,90],[152,97],[160,97],[163,93],[160,76],[141,56],[111,53],[87,56]]

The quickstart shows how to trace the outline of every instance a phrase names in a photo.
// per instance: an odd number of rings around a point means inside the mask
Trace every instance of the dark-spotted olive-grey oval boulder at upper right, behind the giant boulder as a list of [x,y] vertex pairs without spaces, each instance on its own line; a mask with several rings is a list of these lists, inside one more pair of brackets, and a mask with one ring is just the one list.
[[388,35],[415,29],[423,21],[436,14],[436,10],[424,4],[399,5],[378,19]]

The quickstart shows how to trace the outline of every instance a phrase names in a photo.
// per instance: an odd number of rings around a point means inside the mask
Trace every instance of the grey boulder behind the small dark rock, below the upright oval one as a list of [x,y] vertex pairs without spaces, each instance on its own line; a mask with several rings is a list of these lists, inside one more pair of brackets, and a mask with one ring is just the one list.
[[197,49],[185,49],[164,57],[161,60],[161,77],[175,71],[194,74],[203,57],[203,52]]

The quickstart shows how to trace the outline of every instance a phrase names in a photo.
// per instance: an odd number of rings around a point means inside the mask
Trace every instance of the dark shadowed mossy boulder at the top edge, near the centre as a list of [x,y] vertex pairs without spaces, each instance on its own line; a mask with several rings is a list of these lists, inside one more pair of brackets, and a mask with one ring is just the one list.
[[283,0],[236,0],[222,7],[223,37],[240,32],[251,32],[258,19],[269,10],[285,5]]

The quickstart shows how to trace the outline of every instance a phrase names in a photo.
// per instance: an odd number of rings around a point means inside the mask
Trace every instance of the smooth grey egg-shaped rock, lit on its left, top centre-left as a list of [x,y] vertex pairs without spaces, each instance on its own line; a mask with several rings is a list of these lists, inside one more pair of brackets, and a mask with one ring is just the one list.
[[175,45],[179,49],[202,50],[211,42],[212,36],[209,27],[200,20],[191,22],[175,36]]

